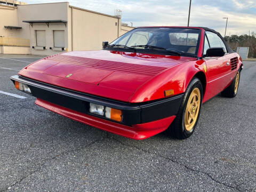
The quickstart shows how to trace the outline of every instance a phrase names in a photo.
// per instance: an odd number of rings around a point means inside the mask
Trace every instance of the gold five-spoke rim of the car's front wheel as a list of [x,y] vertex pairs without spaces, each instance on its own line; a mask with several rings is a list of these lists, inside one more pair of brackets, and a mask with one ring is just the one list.
[[201,102],[201,93],[198,88],[195,88],[188,99],[186,112],[185,112],[185,129],[190,131],[198,117],[199,109],[200,109],[200,102]]

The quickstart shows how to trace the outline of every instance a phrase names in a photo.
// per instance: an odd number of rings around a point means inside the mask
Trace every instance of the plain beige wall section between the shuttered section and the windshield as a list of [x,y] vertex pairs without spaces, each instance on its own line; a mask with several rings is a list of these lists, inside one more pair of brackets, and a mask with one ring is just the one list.
[[118,37],[119,18],[73,6],[69,9],[73,26],[73,51],[100,50],[102,41],[112,42]]

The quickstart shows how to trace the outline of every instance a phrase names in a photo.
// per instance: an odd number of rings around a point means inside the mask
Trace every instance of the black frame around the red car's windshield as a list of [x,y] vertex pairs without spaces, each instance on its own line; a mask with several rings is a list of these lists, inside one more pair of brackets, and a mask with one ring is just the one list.
[[[122,41],[122,39],[124,39],[126,36],[129,36],[129,34],[134,33],[134,31],[150,31],[150,30],[155,30],[155,29],[165,29],[168,30],[170,29],[170,33],[187,33],[187,34],[198,34],[198,38],[197,38],[197,44],[196,44],[196,51],[195,53],[187,53],[187,52],[181,52],[181,57],[193,57],[193,58],[197,58],[198,55],[198,50],[199,50],[199,46],[201,44],[201,34],[202,34],[202,29],[200,28],[187,28],[187,27],[139,27],[139,28],[135,28],[127,33],[125,33],[124,35],[118,37],[117,39],[115,39],[115,41],[111,42],[109,45],[113,45],[113,43],[118,44],[119,41]],[[165,32],[166,33],[166,32]],[[132,35],[130,35],[130,37],[128,37],[127,42],[129,41],[129,39],[131,38]],[[119,41],[118,41],[119,39]],[[126,46],[127,46],[127,42],[126,42]],[[180,45],[180,46],[186,46],[186,45]],[[189,45],[187,45],[189,46]],[[133,50],[129,50],[129,49],[125,49],[124,47],[106,47],[103,50],[120,50],[120,51],[125,51],[125,52],[134,52]],[[150,50],[150,49],[137,49],[137,52],[139,53],[148,53],[148,54],[160,54],[160,55],[175,55],[173,53],[168,53],[167,51],[164,50]]]

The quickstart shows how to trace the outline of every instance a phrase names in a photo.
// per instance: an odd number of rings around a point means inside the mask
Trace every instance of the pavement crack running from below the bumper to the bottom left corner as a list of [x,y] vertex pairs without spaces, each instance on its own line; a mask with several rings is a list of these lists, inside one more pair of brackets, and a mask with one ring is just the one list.
[[44,161],[42,161],[42,162],[39,163],[39,167],[38,167],[36,170],[31,171],[30,173],[28,173],[28,174],[25,175],[24,177],[20,178],[18,181],[15,181],[12,185],[0,189],[0,192],[9,190],[11,187],[14,187],[14,186],[17,185],[18,183],[22,182],[23,180],[25,180],[26,178],[28,178],[30,175],[32,175],[32,174],[34,174],[34,173],[36,173],[36,172],[39,172],[39,171],[42,169],[42,167],[43,167],[47,162],[52,161],[53,159],[55,159],[55,158],[57,158],[57,157],[60,157],[60,156],[62,156],[62,155],[64,155],[64,154],[68,154],[68,153],[73,152],[73,151],[79,151],[79,150],[86,149],[87,147],[93,145],[94,143],[96,143],[96,142],[98,142],[98,141],[101,141],[101,140],[104,140],[104,139],[106,139],[106,138],[103,138],[103,139],[101,138],[101,139],[94,140],[93,142],[89,143],[88,145],[86,145],[86,146],[84,146],[84,147],[80,147],[80,148],[76,148],[76,149],[71,149],[71,150],[63,151],[62,153],[57,154],[57,155],[55,155],[55,156],[53,156],[53,157],[51,157],[51,158],[44,159]]

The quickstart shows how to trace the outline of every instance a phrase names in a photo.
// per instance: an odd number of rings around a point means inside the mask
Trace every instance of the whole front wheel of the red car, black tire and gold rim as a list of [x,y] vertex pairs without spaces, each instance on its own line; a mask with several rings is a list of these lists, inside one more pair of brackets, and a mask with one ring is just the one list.
[[203,100],[203,85],[198,78],[193,78],[181,102],[178,114],[171,124],[174,137],[185,139],[193,134],[197,125]]

